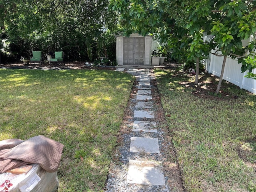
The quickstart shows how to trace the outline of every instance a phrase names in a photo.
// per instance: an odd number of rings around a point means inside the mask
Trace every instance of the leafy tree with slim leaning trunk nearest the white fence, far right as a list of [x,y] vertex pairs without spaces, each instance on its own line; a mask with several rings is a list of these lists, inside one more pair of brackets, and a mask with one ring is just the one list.
[[[254,44],[242,46],[242,40],[248,39],[256,32],[256,2],[254,1],[218,1],[215,10],[212,10],[212,34],[216,50],[221,51],[224,56],[220,80],[216,89],[219,93],[227,56],[240,58],[242,72],[244,69],[252,69],[253,60],[244,60],[246,53],[255,48]],[[218,55],[218,54],[217,54]],[[255,56],[254,56],[255,57]],[[255,60],[254,60],[255,62]]]

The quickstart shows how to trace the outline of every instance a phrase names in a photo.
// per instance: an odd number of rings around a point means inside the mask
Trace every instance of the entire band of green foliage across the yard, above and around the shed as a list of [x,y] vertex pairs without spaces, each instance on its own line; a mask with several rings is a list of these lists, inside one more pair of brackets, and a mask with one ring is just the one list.
[[[167,42],[172,58],[185,63],[198,64],[214,48],[238,58],[241,71],[256,79],[256,1],[0,0],[0,9],[4,58],[63,50],[67,60],[114,60],[115,35],[123,29],[125,36],[138,32]],[[214,36],[211,42],[203,42],[206,33]]]

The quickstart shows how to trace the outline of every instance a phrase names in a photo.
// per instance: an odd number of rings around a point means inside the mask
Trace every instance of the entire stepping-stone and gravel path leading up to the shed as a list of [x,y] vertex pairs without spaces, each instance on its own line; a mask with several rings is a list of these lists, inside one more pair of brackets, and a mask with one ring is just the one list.
[[[120,71],[120,69],[117,70]],[[127,164],[125,165],[125,167],[127,166],[126,168],[119,168],[120,170],[126,171],[126,180],[124,180],[124,178],[120,175],[119,177],[122,177],[122,183],[119,182],[116,184],[117,187],[116,185],[112,185],[111,187],[111,184],[113,183],[111,178],[116,177],[116,172],[115,174],[112,172],[112,177],[108,178],[111,180],[111,182],[110,184],[107,184],[107,192],[155,192],[160,191],[158,189],[160,189],[161,186],[163,186],[164,191],[169,192],[169,190],[166,190],[165,186],[162,162],[150,159],[150,155],[152,154],[157,154],[156,156],[161,155],[159,140],[156,138],[158,135],[157,124],[153,120],[154,111],[152,108],[154,107],[154,102],[152,100],[150,72],[148,69],[128,69],[128,73],[133,74],[138,79],[138,92],[136,95],[132,125],[132,132],[134,132],[134,135],[138,136],[131,136],[128,138],[130,140],[130,147],[127,148],[128,151],[125,153],[128,153],[129,156],[134,157],[128,158]],[[144,135],[144,133],[147,134]],[[138,159],[136,158],[138,154],[139,156],[144,156],[145,154],[148,154],[149,156]],[[125,158],[123,157],[122,159]],[[120,172],[120,170],[117,172]],[[124,173],[122,175],[124,175]],[[132,188],[127,188],[127,184],[132,184]],[[144,190],[138,190],[138,188],[141,187],[140,185],[145,186]]]

